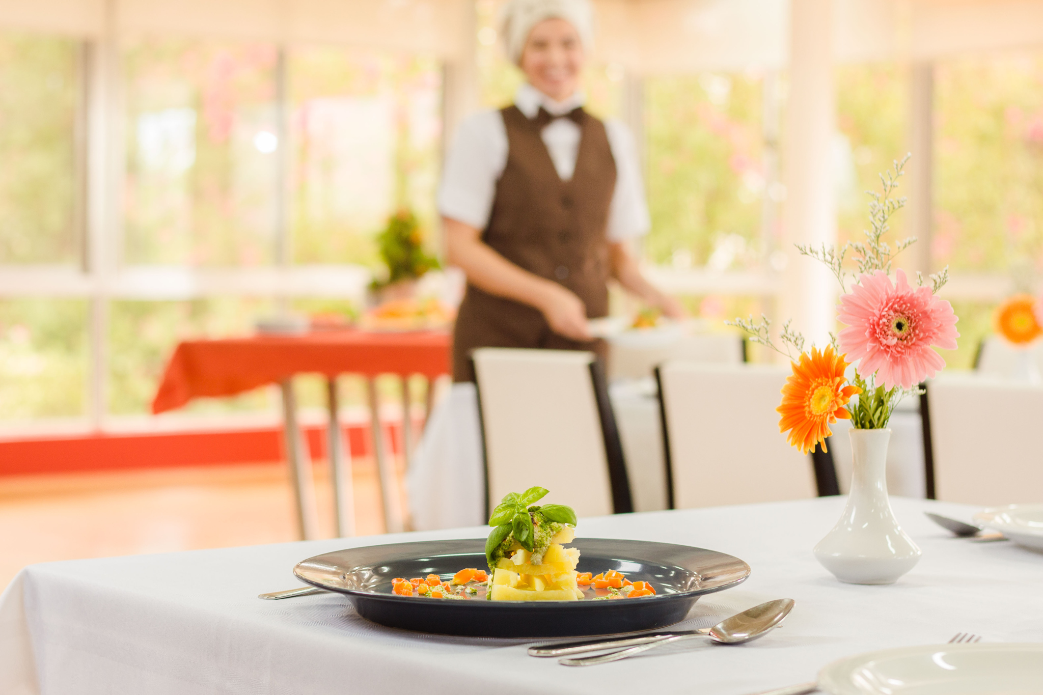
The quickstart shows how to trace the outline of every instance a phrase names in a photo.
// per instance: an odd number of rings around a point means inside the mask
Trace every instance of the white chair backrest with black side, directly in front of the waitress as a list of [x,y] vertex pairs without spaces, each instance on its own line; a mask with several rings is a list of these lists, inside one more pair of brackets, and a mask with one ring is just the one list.
[[474,351],[486,503],[532,486],[581,517],[632,511],[601,363],[571,350]]

